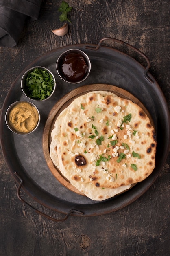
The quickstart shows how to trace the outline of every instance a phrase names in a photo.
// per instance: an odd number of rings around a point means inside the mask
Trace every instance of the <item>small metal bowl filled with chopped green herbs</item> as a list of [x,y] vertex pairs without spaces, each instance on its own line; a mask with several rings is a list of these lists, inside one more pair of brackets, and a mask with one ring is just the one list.
[[22,92],[26,97],[35,101],[49,99],[55,87],[55,77],[46,67],[32,67],[24,73],[21,79]]

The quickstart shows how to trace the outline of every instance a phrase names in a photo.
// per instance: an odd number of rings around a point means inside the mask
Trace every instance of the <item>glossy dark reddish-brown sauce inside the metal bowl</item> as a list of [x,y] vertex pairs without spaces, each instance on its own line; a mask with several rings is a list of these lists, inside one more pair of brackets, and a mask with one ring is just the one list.
[[79,53],[68,53],[61,61],[61,74],[70,82],[78,82],[88,70],[85,58]]

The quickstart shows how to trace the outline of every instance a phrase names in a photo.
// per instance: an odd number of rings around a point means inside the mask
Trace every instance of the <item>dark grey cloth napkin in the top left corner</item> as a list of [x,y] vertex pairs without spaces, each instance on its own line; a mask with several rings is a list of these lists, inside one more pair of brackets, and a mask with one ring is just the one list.
[[26,18],[37,20],[42,0],[0,0],[0,46],[17,45]]

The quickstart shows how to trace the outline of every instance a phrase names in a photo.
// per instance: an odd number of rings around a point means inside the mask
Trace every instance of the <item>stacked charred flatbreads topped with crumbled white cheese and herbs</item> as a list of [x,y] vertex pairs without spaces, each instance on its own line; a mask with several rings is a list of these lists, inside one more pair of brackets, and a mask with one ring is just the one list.
[[92,200],[111,198],[155,167],[155,131],[144,110],[111,92],[74,99],[57,117],[50,157],[61,174]]

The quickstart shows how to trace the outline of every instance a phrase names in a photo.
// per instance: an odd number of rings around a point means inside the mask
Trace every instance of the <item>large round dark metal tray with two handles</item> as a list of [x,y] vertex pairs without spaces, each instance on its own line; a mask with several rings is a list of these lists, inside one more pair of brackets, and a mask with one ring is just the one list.
[[[135,50],[146,59],[147,67],[143,67],[127,54],[102,45],[102,41],[112,40]],[[79,84],[69,84],[59,78],[56,61],[59,55],[68,49],[81,49],[90,58],[92,69],[89,77]],[[25,100],[20,81],[24,72],[33,66],[44,66],[55,76],[56,91],[44,102],[35,102],[41,115],[38,129],[30,135],[13,134],[5,124],[5,112],[14,101]],[[166,100],[158,83],[148,72],[148,58],[135,47],[114,38],[103,38],[98,45],[70,45],[48,52],[33,61],[14,81],[2,107],[0,119],[0,142],[4,158],[15,181],[19,184],[18,198],[35,212],[51,220],[61,222],[70,214],[75,216],[97,216],[110,213],[125,207],[139,198],[155,181],[166,161],[170,146],[170,116]],[[42,135],[46,120],[52,107],[65,94],[83,85],[109,84],[122,88],[134,95],[150,113],[157,134],[156,165],[153,173],[146,180],[139,182],[132,189],[105,201],[92,201],[65,188],[52,175],[46,164]],[[103,88],[104,90],[105,88]],[[113,91],[114,92],[114,91]],[[26,202],[20,195],[24,189],[27,195],[45,207],[65,214],[63,219],[55,219],[40,212]]]

